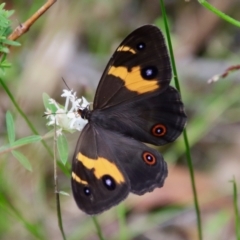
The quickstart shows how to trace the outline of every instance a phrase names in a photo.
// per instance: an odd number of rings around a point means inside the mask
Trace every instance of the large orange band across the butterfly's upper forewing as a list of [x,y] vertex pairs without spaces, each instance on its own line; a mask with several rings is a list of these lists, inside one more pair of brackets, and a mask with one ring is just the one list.
[[121,78],[128,90],[138,92],[139,94],[159,89],[158,80],[145,80],[141,76],[140,67],[133,67],[131,71],[128,71],[126,67],[112,66],[108,74]]

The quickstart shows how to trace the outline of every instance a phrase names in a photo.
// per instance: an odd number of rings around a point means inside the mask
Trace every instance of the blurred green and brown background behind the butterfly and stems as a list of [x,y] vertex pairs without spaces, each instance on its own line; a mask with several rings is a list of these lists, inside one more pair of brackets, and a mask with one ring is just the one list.
[[[45,1],[7,0],[14,9],[12,28],[27,20]],[[240,20],[240,1],[210,1]],[[216,74],[240,64],[240,29],[204,9],[197,1],[165,1],[182,98],[188,115],[197,193],[205,240],[235,239],[232,183],[240,182],[240,73],[208,84]],[[157,24],[163,31],[159,1],[58,0],[11,48],[12,68],[3,76],[18,104],[41,135],[42,94],[63,103],[65,85],[92,101],[101,73],[118,44],[135,28]],[[0,145],[7,142],[5,114],[16,121],[16,136],[32,135],[0,88]],[[79,133],[68,134],[70,152]],[[52,148],[52,140],[48,140]],[[32,164],[25,170],[11,155],[0,156],[0,239],[61,239],[57,224],[53,160],[40,143],[22,147]],[[162,147],[169,165],[163,188],[121,205],[127,225],[119,233],[119,207],[98,216],[106,239],[197,239],[196,217],[185,147],[180,137]],[[71,163],[71,156],[69,157]],[[92,219],[76,206],[70,179],[60,170],[63,225],[67,239],[98,239]]]

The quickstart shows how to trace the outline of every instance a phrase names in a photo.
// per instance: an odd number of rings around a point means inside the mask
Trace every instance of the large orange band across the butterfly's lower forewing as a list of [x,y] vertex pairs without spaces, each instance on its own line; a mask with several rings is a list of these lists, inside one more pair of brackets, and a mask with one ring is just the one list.
[[100,179],[104,175],[112,176],[116,182],[125,182],[122,173],[118,170],[117,166],[108,161],[106,158],[99,157],[97,159],[91,159],[78,153],[76,156],[77,160],[80,161],[87,169],[94,169],[94,175]]

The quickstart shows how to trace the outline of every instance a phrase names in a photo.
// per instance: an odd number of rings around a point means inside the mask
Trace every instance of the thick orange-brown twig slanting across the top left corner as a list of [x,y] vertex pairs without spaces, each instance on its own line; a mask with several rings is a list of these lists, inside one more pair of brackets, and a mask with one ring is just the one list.
[[15,30],[8,36],[8,39],[16,40],[22,36],[56,1],[57,0],[48,0],[26,22],[21,23],[19,26],[17,26]]

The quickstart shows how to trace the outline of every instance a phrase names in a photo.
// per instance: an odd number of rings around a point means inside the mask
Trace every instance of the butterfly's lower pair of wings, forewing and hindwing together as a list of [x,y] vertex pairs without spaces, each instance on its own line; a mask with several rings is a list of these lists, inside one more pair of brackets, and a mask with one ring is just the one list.
[[84,128],[72,164],[72,189],[80,209],[97,214],[129,193],[138,195],[163,186],[167,166],[145,144],[95,124]]

